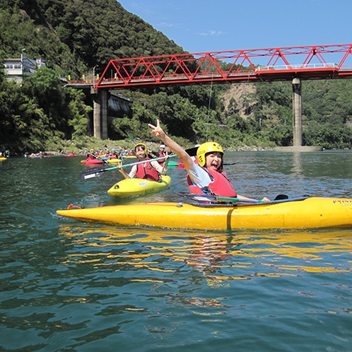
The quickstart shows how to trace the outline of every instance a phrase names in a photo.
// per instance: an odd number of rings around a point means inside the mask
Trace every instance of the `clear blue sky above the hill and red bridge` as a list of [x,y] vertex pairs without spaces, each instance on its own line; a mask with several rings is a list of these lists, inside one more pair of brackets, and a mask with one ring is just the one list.
[[352,42],[352,0],[119,0],[191,54]]

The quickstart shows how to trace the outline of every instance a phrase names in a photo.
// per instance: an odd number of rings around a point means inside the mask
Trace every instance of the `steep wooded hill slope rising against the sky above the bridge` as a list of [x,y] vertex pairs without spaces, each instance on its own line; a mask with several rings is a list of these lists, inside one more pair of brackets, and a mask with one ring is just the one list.
[[115,0],[0,0],[0,44],[8,57],[43,57],[66,76],[110,59],[183,52]]

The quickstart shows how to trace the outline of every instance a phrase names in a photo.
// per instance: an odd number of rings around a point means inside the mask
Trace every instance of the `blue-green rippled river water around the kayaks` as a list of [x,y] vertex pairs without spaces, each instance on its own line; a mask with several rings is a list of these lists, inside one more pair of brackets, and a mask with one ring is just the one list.
[[[239,194],[352,198],[352,152],[232,152]],[[211,233],[57,216],[121,204],[79,158],[0,162],[0,351],[352,351],[352,228]],[[180,201],[170,190],[125,202]],[[184,201],[184,199],[182,199]]]

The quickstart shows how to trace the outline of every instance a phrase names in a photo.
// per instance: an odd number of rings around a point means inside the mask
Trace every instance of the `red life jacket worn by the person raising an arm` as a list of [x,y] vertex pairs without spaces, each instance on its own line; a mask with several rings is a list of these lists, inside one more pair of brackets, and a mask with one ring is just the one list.
[[[204,170],[209,173],[211,180],[213,180],[211,183],[209,183],[209,186],[207,187],[208,191],[210,190],[210,192],[212,194],[215,194],[216,196],[230,196],[234,198],[237,197],[237,193],[233,188],[233,185],[231,184],[230,180],[228,180],[228,177],[225,174],[214,170],[208,170],[206,168],[204,168]],[[194,184],[192,184],[191,178],[188,175],[187,183],[189,190],[192,193],[204,194],[200,187],[196,187],[194,186]]]

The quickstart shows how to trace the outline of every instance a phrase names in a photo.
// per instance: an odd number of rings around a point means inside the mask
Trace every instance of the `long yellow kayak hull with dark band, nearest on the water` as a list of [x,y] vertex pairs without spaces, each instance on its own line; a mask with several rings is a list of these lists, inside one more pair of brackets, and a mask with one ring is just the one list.
[[311,197],[244,206],[178,203],[127,204],[58,210],[61,216],[118,226],[195,230],[352,227],[352,199]]

